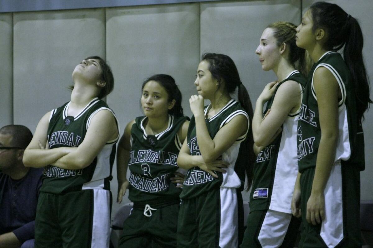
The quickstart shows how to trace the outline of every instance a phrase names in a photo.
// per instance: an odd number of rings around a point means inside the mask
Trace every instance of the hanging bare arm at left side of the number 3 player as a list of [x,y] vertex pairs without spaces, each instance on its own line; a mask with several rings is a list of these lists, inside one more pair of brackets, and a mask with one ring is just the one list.
[[117,180],[118,180],[118,196],[117,203],[122,202],[128,188],[127,168],[129,160],[129,152],[131,151],[131,128],[135,124],[135,120],[130,121],[124,130],[122,138],[118,143],[117,149]]

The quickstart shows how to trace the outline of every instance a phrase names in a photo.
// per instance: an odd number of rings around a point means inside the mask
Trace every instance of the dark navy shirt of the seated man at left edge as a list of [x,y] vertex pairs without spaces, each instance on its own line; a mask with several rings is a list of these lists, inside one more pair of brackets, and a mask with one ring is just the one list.
[[0,234],[13,232],[23,243],[34,239],[43,168],[30,168],[19,180],[0,173]]

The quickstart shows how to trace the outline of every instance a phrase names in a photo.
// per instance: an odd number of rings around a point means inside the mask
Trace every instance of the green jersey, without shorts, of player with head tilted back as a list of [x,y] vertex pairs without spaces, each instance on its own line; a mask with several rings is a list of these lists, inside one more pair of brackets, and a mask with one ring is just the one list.
[[[60,108],[51,111],[47,139],[49,149],[58,147],[78,147],[84,140],[92,117],[100,110],[107,109],[114,112],[107,104],[94,98],[75,117],[68,115],[70,102]],[[118,133],[119,125],[117,123]],[[118,134],[119,137],[119,134]],[[115,143],[118,137],[108,141],[93,162],[84,169],[61,169],[48,165],[43,171],[43,185],[40,191],[46,193],[66,193],[86,189],[107,189],[110,190],[112,179],[112,166],[115,159]],[[82,154],[84,156],[84,154]]]

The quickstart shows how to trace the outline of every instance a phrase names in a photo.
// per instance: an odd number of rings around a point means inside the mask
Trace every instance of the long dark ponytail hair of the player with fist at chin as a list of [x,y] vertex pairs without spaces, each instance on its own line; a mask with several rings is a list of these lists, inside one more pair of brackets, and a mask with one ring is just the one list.
[[247,155],[248,158],[245,168],[246,176],[248,179],[248,190],[253,180],[253,166],[256,158],[253,150],[253,129],[251,128],[251,121],[253,120],[254,111],[249,93],[247,92],[245,86],[242,84],[241,79],[239,78],[238,70],[235,63],[229,56],[224,54],[205,53],[202,55],[202,60],[209,62],[209,70],[212,76],[219,83],[224,82],[225,90],[229,94],[235,92],[236,87],[238,87],[238,102],[241,104],[242,108],[245,109],[249,116],[249,130],[245,141],[242,142],[244,146],[241,145],[241,147],[244,147],[244,149],[242,149],[242,152],[240,149],[238,155]]

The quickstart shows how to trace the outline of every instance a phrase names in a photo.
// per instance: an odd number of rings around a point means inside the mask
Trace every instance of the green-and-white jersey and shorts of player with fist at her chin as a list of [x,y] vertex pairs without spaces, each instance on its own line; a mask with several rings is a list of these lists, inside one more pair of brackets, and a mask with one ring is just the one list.
[[[239,102],[231,100],[217,114],[207,118],[211,105],[204,110],[206,125],[213,139],[226,123],[237,115],[247,113]],[[243,205],[241,191],[245,182],[247,147],[241,145],[246,133],[220,157],[229,162],[226,173],[219,178],[194,167],[188,170],[180,195],[182,199],[178,222],[178,248],[238,247],[242,235]],[[201,155],[198,147],[195,118],[189,123],[187,143],[190,154]],[[240,234],[240,235],[239,235]]]

